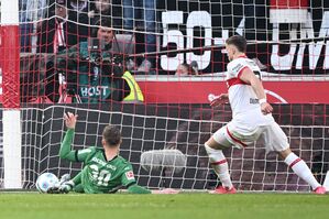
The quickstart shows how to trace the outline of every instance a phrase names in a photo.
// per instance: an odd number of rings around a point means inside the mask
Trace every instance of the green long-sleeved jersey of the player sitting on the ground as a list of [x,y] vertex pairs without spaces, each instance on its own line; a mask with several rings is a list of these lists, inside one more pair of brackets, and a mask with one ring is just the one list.
[[111,161],[107,161],[105,151],[96,146],[70,151],[73,135],[74,130],[68,130],[59,155],[69,161],[84,162],[80,179],[85,193],[110,193],[121,186],[135,184],[132,165],[122,156],[117,155]]

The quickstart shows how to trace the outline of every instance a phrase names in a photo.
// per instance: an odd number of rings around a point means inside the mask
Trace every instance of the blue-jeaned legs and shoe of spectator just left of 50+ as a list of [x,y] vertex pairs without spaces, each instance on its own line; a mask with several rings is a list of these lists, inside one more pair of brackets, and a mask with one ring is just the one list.
[[[122,0],[123,4],[123,28],[125,30],[133,30],[134,22],[143,20],[144,28],[143,32],[151,34],[145,34],[145,52],[153,53],[156,51],[156,0]],[[150,73],[150,69],[155,66],[154,57],[145,57],[139,67],[139,72]]]

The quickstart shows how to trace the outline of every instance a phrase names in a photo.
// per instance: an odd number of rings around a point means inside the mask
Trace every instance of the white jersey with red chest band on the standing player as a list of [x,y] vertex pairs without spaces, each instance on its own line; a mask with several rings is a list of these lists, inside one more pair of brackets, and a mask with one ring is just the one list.
[[243,69],[250,68],[261,79],[261,69],[246,56],[241,56],[228,64],[226,81],[229,88],[229,99],[232,108],[233,129],[241,133],[251,133],[260,125],[274,121],[272,114],[264,116],[253,88],[240,79]]

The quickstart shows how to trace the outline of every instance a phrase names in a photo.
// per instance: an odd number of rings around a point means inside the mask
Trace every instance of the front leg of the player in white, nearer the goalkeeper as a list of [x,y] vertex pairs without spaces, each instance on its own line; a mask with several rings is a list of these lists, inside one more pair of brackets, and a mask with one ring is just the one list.
[[223,149],[230,147],[232,144],[224,135],[226,127],[218,130],[206,143],[205,149],[208,153],[210,164],[220,179],[222,187],[218,187],[215,193],[228,194],[235,193],[229,173],[229,165],[222,153]]

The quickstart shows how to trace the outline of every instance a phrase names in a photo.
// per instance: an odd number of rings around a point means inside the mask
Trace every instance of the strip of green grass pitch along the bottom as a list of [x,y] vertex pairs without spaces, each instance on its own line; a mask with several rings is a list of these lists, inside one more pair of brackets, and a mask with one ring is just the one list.
[[329,195],[0,193],[1,219],[328,219]]

